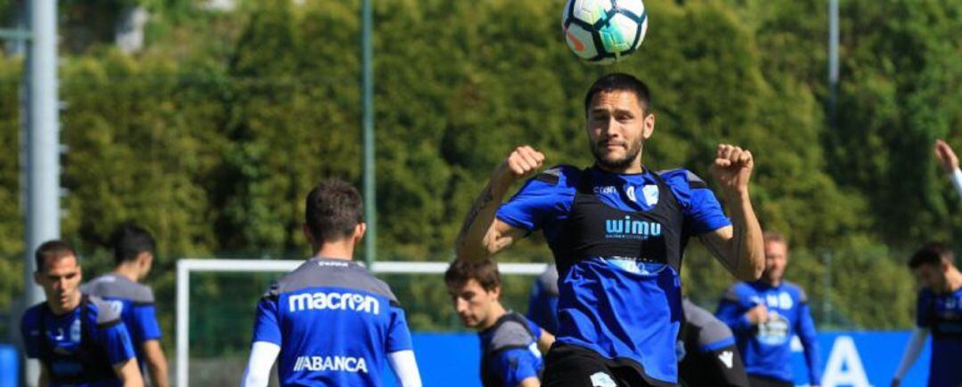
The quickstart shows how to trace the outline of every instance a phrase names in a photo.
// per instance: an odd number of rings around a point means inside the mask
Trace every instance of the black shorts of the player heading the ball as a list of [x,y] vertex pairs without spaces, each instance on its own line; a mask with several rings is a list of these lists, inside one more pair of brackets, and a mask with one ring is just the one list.
[[555,343],[544,356],[545,387],[674,386],[645,375],[637,362],[607,359],[595,351]]

